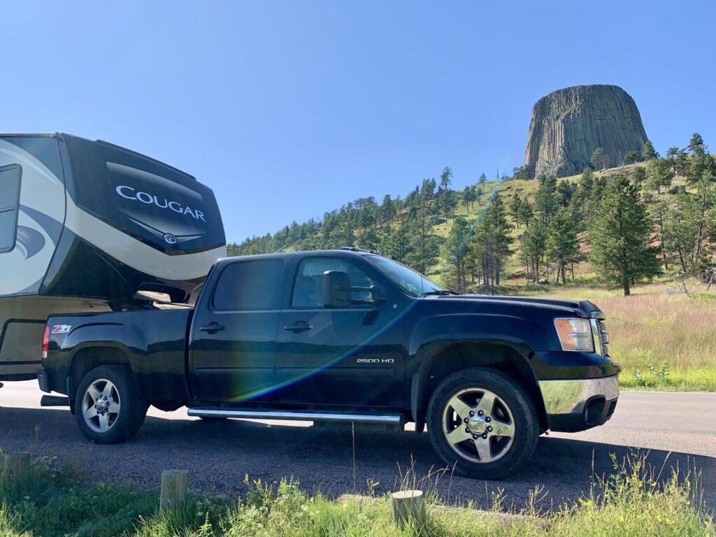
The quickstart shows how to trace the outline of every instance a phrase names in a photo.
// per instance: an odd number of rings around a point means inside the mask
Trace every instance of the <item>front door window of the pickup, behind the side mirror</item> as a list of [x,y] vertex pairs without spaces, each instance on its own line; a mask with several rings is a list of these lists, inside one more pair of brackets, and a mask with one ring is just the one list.
[[[294,281],[291,306],[297,308],[323,307],[323,274],[326,271],[342,271],[348,274],[352,287],[370,287],[373,279],[349,261],[327,257],[309,257],[301,261]],[[369,291],[354,291],[354,300],[367,301]]]

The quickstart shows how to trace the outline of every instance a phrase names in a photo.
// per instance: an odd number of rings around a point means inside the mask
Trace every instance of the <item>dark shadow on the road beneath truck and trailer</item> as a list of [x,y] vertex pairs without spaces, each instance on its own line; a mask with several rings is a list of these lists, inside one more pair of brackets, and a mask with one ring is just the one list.
[[[364,491],[369,480],[379,483],[378,492],[393,490],[411,465],[418,479],[432,473],[435,484],[435,472],[441,468],[427,434],[415,432],[358,430],[354,438],[350,430],[147,417],[132,440],[91,445],[67,410],[8,407],[0,407],[0,448],[57,456],[86,468],[92,478],[131,480],[145,488],[158,488],[162,470],[185,468],[190,471],[191,488],[230,495],[245,490],[245,475],[265,483],[293,477],[306,490],[339,495]],[[541,437],[530,463],[510,478],[485,482],[448,472],[437,479],[437,490],[450,502],[474,500],[484,508],[501,489],[507,506],[520,508],[536,485],[544,485],[548,498],[543,506],[571,503],[589,491],[594,473],[611,473],[611,454],[621,459],[638,449]],[[672,469],[700,469],[705,502],[710,508],[716,506],[716,458],[650,450],[649,463],[657,468],[664,465],[664,477]]]

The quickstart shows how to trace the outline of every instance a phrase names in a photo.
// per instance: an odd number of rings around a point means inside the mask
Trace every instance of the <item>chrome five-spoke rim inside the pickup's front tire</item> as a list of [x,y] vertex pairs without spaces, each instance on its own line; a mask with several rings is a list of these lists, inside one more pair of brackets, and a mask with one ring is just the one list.
[[503,458],[515,438],[510,407],[498,395],[467,388],[450,397],[442,410],[442,433],[450,448],[473,463]]

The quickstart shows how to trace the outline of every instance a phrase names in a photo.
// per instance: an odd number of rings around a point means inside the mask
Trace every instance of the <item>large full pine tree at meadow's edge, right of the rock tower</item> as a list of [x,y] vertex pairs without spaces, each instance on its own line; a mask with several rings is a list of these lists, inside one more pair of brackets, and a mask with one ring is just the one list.
[[637,185],[617,175],[604,188],[592,215],[589,259],[597,274],[631,294],[632,285],[657,274],[659,262],[649,246],[651,225]]

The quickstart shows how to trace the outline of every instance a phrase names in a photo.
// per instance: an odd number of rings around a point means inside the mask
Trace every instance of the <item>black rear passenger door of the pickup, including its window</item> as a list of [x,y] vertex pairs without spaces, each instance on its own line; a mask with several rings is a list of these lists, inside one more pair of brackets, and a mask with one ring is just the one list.
[[193,396],[212,403],[266,400],[276,378],[284,259],[235,261],[218,269],[216,286],[205,289],[192,322]]

